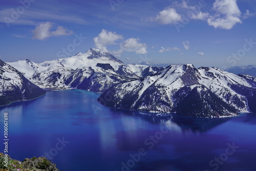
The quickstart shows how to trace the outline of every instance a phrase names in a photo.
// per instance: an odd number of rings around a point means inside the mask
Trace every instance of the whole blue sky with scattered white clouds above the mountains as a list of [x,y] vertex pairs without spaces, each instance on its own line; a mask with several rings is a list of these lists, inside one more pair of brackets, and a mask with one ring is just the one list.
[[0,59],[43,62],[90,48],[124,63],[256,64],[253,0],[0,0]]

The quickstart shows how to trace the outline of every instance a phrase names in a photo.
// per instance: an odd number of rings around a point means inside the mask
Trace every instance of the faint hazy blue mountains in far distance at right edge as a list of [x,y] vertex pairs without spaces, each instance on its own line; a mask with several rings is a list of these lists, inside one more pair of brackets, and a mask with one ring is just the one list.
[[227,72],[231,72],[234,74],[248,74],[256,77],[256,66],[249,65],[245,67],[231,67],[226,69]]

